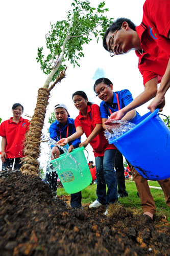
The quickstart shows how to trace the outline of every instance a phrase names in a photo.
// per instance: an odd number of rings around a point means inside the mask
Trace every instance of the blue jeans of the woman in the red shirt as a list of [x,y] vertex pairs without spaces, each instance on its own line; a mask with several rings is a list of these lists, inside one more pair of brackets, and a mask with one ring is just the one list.
[[[117,198],[117,180],[114,170],[116,150],[106,150],[104,156],[95,157],[98,201],[105,204],[113,204]],[[107,185],[107,194],[106,194]]]

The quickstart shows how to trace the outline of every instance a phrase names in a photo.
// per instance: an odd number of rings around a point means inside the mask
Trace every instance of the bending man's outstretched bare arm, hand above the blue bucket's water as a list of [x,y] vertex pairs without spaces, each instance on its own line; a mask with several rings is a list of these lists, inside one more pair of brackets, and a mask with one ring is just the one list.
[[[114,120],[122,119],[125,116],[125,114],[128,113],[129,111],[136,109],[138,106],[141,106],[145,102],[155,97],[156,93],[157,93],[157,78],[154,77],[153,79],[145,83],[144,91],[141,94],[139,94],[130,104],[125,106],[125,108],[111,114],[109,119],[114,119]],[[124,120],[127,120],[127,119],[124,119]]]

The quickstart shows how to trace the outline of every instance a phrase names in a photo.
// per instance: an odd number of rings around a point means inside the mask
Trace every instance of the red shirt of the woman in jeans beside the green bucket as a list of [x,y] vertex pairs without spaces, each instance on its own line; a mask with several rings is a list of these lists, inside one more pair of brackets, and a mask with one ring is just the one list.
[[[95,128],[95,124],[102,123],[99,106],[92,104],[87,106],[87,115],[82,116],[79,112],[79,116],[75,119],[75,126],[82,127],[86,137],[88,137]],[[116,147],[113,144],[109,144],[108,140],[104,136],[104,130],[90,141],[90,145],[93,148],[94,157],[104,156],[106,150],[115,150]]]

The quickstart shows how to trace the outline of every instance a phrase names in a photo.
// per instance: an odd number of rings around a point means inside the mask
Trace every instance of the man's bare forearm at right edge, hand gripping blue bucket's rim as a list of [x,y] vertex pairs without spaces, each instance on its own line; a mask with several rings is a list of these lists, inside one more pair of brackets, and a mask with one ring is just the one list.
[[156,97],[148,106],[148,109],[151,110],[151,112],[153,112],[157,108],[159,108],[160,111],[162,111],[165,105],[165,93],[167,92],[169,87],[170,87],[170,58],[168,61],[168,65],[166,67],[166,71],[162,77],[160,87],[158,89]]

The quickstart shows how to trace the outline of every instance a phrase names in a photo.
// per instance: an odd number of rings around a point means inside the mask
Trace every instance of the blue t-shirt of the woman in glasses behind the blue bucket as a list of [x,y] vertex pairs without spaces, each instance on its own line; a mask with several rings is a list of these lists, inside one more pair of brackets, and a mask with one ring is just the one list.
[[[112,104],[109,104],[108,102],[105,102],[105,101],[101,102],[101,104],[100,104],[101,118],[108,118],[111,115],[109,109],[111,110],[112,113],[118,111],[118,104],[117,104],[117,98],[116,98],[115,93],[117,93],[117,95],[118,95],[120,109],[123,109],[125,106],[127,106],[129,103],[131,103],[133,101],[132,94],[127,89],[118,91],[118,92],[114,92]],[[140,117],[140,115],[136,111],[136,116],[132,120],[129,120],[129,121],[133,123],[139,117]]]

